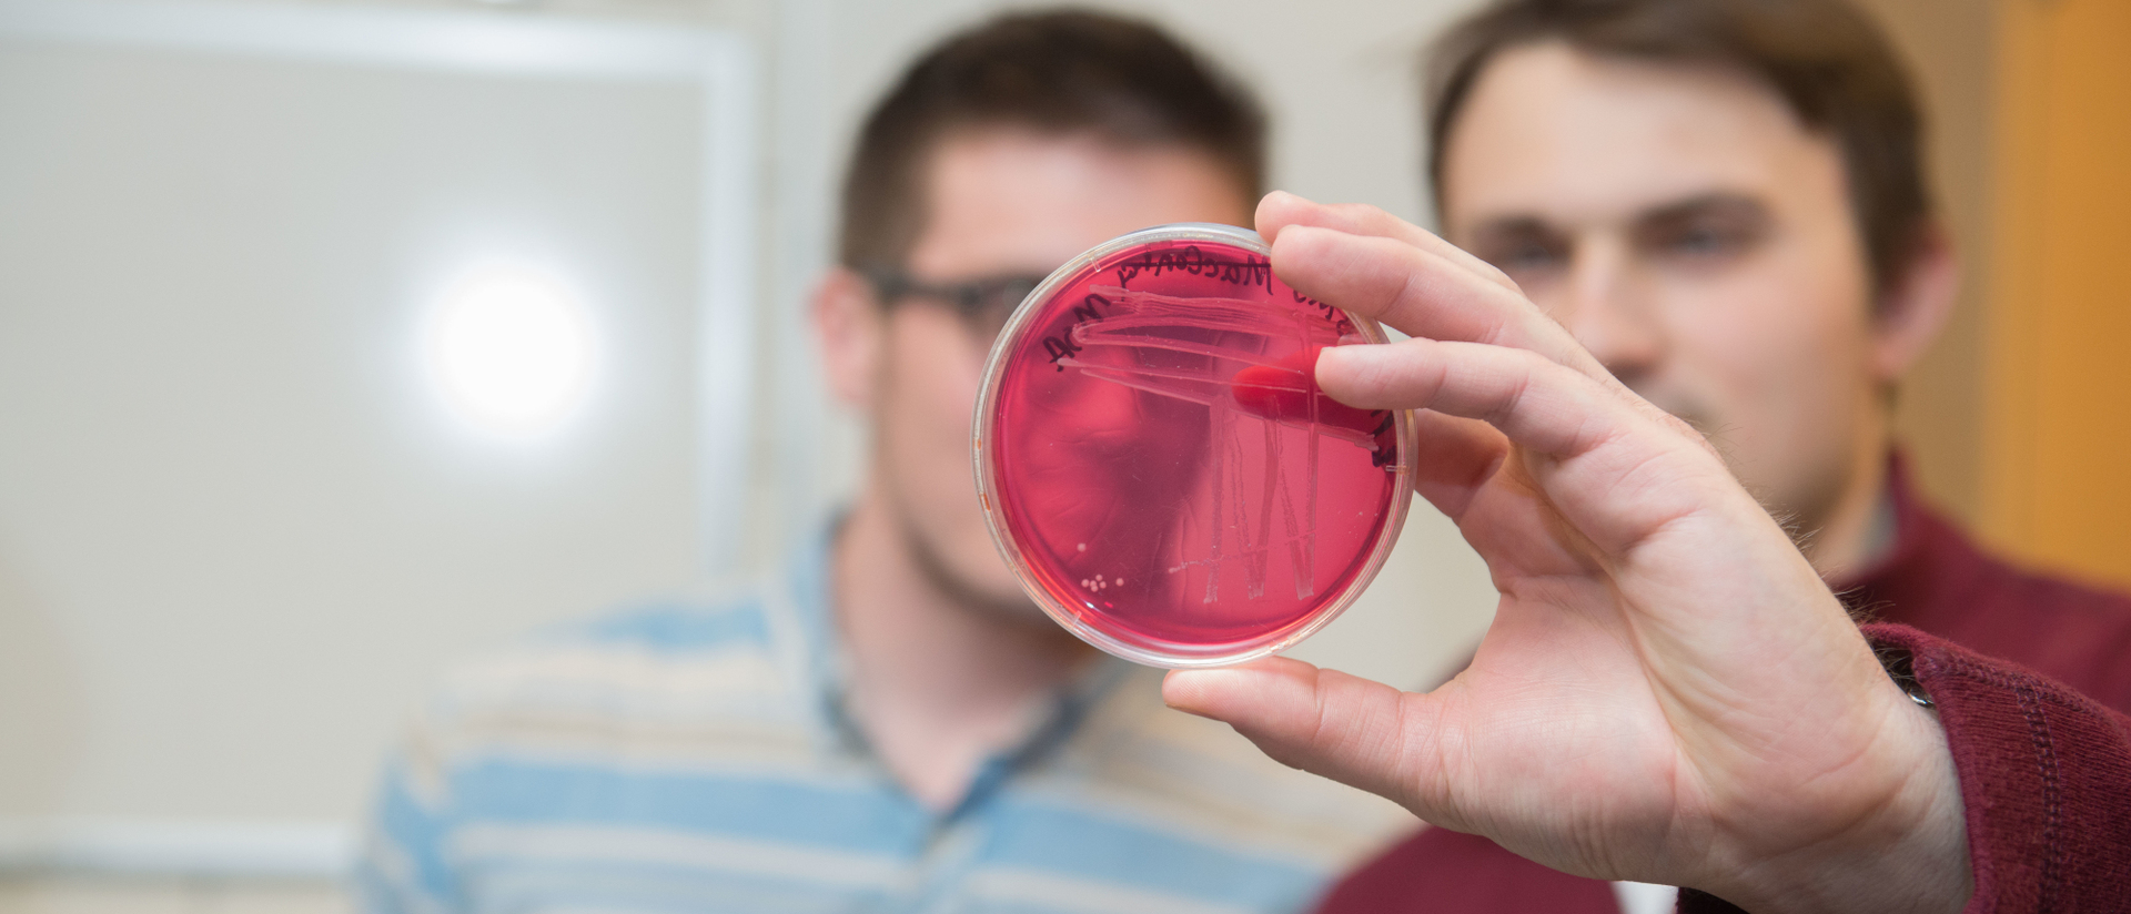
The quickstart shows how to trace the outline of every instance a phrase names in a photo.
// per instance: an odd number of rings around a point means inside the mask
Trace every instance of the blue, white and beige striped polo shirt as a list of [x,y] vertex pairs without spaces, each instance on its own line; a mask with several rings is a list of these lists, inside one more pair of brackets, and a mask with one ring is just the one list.
[[842,707],[829,537],[776,580],[452,675],[388,761],[373,912],[1291,912],[1415,820],[1104,660],[948,812]]

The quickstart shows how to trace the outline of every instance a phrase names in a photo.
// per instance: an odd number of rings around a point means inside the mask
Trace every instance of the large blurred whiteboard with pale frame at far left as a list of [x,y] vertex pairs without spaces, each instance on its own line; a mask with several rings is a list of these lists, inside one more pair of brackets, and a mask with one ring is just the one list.
[[[330,869],[452,656],[703,569],[739,45],[439,13],[0,2],[0,876]],[[418,358],[492,260],[607,354],[541,441]]]

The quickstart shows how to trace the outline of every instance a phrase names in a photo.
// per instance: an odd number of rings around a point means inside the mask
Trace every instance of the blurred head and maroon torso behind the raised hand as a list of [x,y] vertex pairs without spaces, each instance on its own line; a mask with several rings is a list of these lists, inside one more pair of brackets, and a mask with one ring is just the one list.
[[[1428,83],[1443,234],[1686,418],[1860,618],[2131,709],[2131,601],[2016,571],[1922,505],[1890,424],[1956,292],[1916,96],[1841,0],[1507,0]],[[1615,901],[1620,893],[1620,901]],[[1328,910],[1671,910],[1424,831]]]

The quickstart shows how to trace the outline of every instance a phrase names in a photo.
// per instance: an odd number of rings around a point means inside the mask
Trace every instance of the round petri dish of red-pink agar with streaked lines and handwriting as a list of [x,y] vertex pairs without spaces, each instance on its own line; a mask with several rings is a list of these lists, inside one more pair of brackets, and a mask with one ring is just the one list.
[[1112,239],[1051,273],[985,364],[978,501],[1029,597],[1151,667],[1274,654],[1338,616],[1413,494],[1413,418],[1317,390],[1372,320],[1272,275],[1234,226]]

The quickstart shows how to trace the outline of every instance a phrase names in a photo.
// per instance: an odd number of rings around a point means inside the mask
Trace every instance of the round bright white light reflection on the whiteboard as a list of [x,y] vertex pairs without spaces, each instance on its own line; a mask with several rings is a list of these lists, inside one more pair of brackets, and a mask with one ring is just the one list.
[[539,439],[584,407],[599,341],[584,303],[554,275],[486,264],[437,296],[422,362],[443,407],[469,428]]

